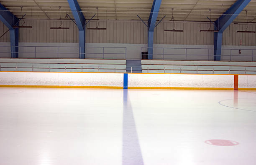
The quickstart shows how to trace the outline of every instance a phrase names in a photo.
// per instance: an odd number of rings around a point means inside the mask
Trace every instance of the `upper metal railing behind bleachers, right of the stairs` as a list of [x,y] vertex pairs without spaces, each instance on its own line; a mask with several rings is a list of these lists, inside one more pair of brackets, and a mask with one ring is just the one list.
[[[148,49],[152,49],[153,53],[142,53],[148,51]],[[221,51],[221,55],[214,55],[214,51]],[[220,56],[222,61],[256,61],[256,49],[141,47],[141,59],[143,59],[143,55],[152,55],[153,60],[212,61],[215,56]]]

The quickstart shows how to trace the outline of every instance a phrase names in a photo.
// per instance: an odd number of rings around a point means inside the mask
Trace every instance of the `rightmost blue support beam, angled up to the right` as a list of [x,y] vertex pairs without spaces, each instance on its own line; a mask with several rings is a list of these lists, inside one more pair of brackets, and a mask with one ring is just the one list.
[[215,21],[215,30],[219,30],[214,34],[214,60],[220,61],[222,34],[226,28],[236,19],[238,14],[248,5],[251,0],[237,0],[218,20]]

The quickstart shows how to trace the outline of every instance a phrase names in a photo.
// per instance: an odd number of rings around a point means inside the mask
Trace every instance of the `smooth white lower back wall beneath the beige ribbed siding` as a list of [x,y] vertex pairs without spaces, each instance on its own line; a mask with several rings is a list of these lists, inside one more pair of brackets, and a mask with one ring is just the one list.
[[[10,57],[10,53],[1,53],[10,51],[9,42],[0,42],[0,57]],[[19,57],[35,57],[35,47],[36,47],[36,57],[38,58],[78,58],[79,50],[78,43],[42,43],[42,42],[20,42],[20,54]],[[5,47],[3,47],[5,46]],[[31,46],[31,47],[22,47],[22,46]],[[51,47],[49,47],[51,46]],[[59,46],[59,54],[58,48]],[[125,59],[125,47],[126,47],[126,58],[131,59],[140,59],[141,50],[147,50],[147,44],[121,44],[121,43],[87,43],[87,58],[100,58],[103,57],[103,48],[104,57],[110,59]],[[98,48],[92,48],[98,47]],[[107,48],[111,47],[111,48]],[[116,47],[116,48],[114,48]],[[123,48],[121,48],[123,47]],[[141,47],[145,47],[141,49]],[[159,60],[213,60],[213,45],[166,45],[166,44],[155,44],[154,47],[154,59]],[[163,49],[165,48],[165,49]],[[177,49],[178,48],[178,49]],[[187,50],[185,49],[187,48]],[[222,57],[221,60],[239,60],[239,61],[256,61],[256,46],[229,46],[223,45],[222,47]],[[230,50],[232,49],[232,50]],[[236,50],[234,50],[236,49]],[[239,54],[239,49],[241,49],[241,54]],[[186,58],[187,51],[187,58]],[[24,53],[23,53],[24,52]],[[26,53],[25,53],[26,52]],[[67,53],[68,54],[65,54]],[[97,54],[89,54],[97,53]],[[110,53],[110,54],[106,54]],[[117,54],[111,54],[117,53]],[[162,55],[170,54],[170,55]],[[239,55],[239,56],[237,56]]]

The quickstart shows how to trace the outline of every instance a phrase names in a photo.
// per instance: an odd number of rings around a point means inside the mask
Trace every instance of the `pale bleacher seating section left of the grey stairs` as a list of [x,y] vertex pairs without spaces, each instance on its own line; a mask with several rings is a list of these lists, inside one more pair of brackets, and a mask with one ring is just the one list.
[[126,60],[0,59],[1,71],[126,72]]

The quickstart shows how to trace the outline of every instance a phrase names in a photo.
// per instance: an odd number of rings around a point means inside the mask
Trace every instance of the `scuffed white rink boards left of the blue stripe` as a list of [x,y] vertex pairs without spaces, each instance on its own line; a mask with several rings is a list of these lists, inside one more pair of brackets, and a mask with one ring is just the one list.
[[0,72],[0,85],[122,87],[122,73]]

